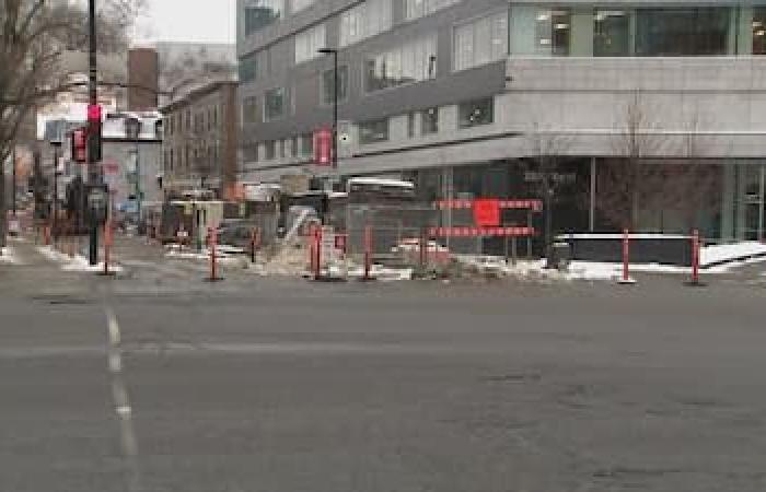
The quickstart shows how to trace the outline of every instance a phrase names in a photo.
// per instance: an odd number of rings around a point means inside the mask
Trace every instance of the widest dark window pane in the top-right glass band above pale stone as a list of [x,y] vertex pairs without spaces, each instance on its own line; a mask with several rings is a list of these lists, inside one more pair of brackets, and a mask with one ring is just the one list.
[[710,56],[729,52],[731,9],[698,7],[636,11],[638,56]]

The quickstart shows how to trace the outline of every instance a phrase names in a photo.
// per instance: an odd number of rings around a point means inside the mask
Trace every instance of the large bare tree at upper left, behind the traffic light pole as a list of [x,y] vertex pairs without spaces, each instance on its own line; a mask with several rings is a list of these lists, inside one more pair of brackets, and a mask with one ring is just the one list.
[[[126,30],[142,0],[100,2],[100,49],[125,46]],[[21,127],[36,108],[77,83],[61,63],[65,52],[84,49],[83,2],[0,0],[0,162],[5,162]],[[1,166],[0,166],[1,167]],[[5,176],[0,169],[0,243],[5,241]],[[0,244],[1,245],[1,244]]]

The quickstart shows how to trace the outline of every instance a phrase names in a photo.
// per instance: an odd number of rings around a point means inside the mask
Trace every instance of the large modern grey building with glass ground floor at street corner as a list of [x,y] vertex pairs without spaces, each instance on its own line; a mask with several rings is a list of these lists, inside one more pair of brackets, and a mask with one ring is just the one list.
[[[766,3],[240,0],[248,179],[343,176],[425,199],[525,198],[560,230],[763,238]],[[555,185],[555,186],[553,186]]]

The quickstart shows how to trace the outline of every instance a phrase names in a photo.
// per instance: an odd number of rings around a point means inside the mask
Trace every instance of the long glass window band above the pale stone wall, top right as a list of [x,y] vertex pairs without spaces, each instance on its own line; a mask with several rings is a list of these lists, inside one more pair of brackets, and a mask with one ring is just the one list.
[[766,55],[766,7],[514,4],[509,39],[524,56]]

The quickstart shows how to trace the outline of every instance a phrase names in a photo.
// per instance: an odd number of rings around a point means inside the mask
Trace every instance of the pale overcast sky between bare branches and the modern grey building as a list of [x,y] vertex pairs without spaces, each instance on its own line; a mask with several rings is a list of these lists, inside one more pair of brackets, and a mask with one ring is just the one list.
[[147,0],[136,40],[234,43],[236,0]]

